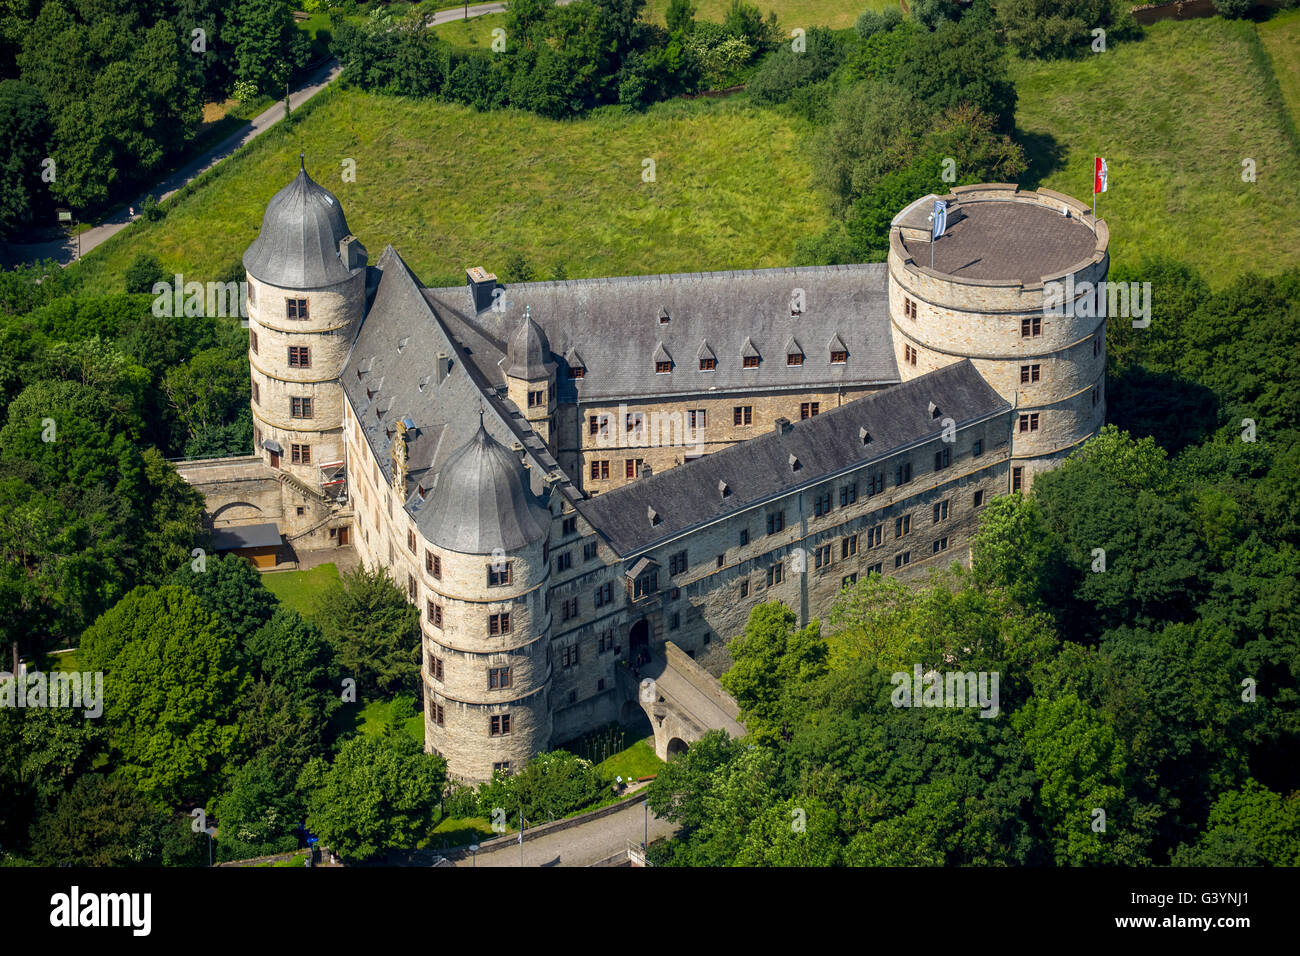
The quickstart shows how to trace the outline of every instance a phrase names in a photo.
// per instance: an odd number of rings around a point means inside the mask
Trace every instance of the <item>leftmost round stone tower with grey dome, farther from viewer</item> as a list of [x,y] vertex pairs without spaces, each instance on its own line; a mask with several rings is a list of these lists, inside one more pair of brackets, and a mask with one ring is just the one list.
[[343,458],[339,376],[365,311],[365,250],[306,168],[244,252],[256,453],[318,490]]

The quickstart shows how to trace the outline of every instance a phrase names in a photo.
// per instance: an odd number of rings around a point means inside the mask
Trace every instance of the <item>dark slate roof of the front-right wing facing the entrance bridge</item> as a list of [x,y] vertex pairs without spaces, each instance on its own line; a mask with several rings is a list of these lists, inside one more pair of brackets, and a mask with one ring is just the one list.
[[[931,415],[930,406],[941,410]],[[577,503],[620,557],[932,438],[1010,405],[968,359]],[[862,432],[871,434],[863,445]],[[792,471],[792,459],[797,471]],[[723,494],[722,489],[729,490]],[[651,524],[653,511],[658,522]]]

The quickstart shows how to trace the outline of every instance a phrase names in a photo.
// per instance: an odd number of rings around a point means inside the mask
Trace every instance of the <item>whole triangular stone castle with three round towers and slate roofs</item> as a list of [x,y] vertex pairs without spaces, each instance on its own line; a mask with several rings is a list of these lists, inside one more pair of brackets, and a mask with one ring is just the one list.
[[968,561],[992,497],[1098,431],[1106,320],[1044,284],[1104,280],[1105,222],[965,186],[932,248],[935,198],[887,263],[428,289],[302,170],[243,260],[255,454],[182,475],[218,532],[387,568],[426,749],[517,770],[636,713],[624,661],[719,674],[759,602],[802,623]]

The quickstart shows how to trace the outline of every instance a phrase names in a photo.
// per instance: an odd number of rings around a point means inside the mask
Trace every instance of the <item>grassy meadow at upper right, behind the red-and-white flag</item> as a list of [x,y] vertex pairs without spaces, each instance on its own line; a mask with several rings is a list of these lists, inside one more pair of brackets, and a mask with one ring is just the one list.
[[[1300,198],[1300,156],[1252,56],[1254,29],[1166,21],[1101,55],[1013,64],[1017,126],[1035,143],[1030,185],[1087,202],[1093,156],[1109,161],[1098,215],[1114,264],[1164,254],[1222,284],[1297,261],[1300,221],[1278,211]],[[1253,183],[1243,159],[1256,161]]]

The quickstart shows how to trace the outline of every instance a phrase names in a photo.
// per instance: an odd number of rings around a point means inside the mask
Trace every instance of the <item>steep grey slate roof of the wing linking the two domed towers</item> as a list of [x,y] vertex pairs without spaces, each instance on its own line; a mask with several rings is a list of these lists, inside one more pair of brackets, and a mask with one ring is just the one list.
[[[498,398],[472,363],[464,362],[462,350],[421,295],[419,281],[391,246],[376,268],[381,273],[378,287],[352,343],[342,384],[378,459],[382,484],[391,486],[394,425],[410,416],[415,428],[407,434],[404,503],[425,536],[448,535],[432,503],[443,499],[441,496],[459,498],[438,490],[438,473],[454,453],[474,438],[477,412],[482,411],[488,434],[507,450],[516,442],[523,445],[521,451],[510,454],[528,460],[530,493],[543,497],[545,476],[558,466],[542,441],[519,410]],[[560,483],[560,490],[577,497],[567,481]],[[450,535],[452,538],[456,535]]]

